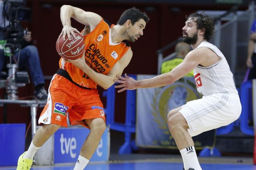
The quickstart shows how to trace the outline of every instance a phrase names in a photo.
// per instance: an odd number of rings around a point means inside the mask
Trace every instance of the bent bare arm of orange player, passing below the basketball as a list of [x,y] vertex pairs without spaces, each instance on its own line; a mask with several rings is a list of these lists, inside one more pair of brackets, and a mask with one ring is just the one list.
[[[104,88],[105,90],[111,87],[114,84],[114,79],[116,75],[121,75],[123,70],[126,66],[130,63],[132,57],[131,49],[125,53],[125,55],[119,59],[118,62],[113,66],[111,71],[108,75],[104,75],[101,73],[97,73],[96,71],[92,70],[86,63],[85,63],[85,56],[83,55],[82,58],[76,60],[68,60],[68,62],[72,63],[76,67],[80,68],[86,75],[88,75],[95,83],[97,83],[100,87]],[[66,60],[67,61],[67,60]]]

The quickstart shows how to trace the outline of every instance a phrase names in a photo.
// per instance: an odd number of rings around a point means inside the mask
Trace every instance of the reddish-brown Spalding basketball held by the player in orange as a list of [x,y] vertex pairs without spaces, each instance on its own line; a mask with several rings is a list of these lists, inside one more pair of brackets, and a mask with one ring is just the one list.
[[83,56],[85,43],[83,37],[75,33],[76,37],[70,36],[70,40],[66,35],[65,41],[63,38],[57,39],[56,50],[58,54],[65,59],[78,59]]

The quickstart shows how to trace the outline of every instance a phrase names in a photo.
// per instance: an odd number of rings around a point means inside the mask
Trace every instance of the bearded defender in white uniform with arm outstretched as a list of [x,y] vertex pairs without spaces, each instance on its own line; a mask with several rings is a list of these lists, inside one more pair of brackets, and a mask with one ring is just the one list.
[[208,15],[191,14],[183,30],[183,41],[193,48],[180,65],[169,73],[136,81],[117,75],[116,88],[161,87],[175,82],[194,69],[197,91],[202,99],[187,102],[168,114],[168,127],[180,150],[185,170],[202,170],[195,153],[192,136],[216,129],[238,119],[242,107],[232,72],[221,51],[209,43],[213,35],[213,19]]

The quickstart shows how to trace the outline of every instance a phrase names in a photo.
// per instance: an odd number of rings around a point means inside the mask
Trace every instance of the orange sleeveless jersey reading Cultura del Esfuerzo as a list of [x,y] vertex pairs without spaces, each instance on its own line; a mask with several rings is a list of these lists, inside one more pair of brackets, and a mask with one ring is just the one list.
[[[114,64],[130,48],[125,42],[114,44],[111,41],[110,28],[112,26],[114,25],[102,19],[92,32],[84,36],[85,63],[94,71],[104,75],[109,73]],[[72,80],[78,85],[96,88],[97,84],[71,63],[65,63],[61,58],[59,66],[66,70]]]

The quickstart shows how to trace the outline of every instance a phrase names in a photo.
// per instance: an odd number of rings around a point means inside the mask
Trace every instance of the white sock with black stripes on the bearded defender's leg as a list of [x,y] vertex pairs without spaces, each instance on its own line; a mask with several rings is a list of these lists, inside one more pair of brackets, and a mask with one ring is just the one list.
[[194,168],[195,170],[202,170],[199,165],[194,146],[189,146],[180,150],[184,162],[184,169]]

